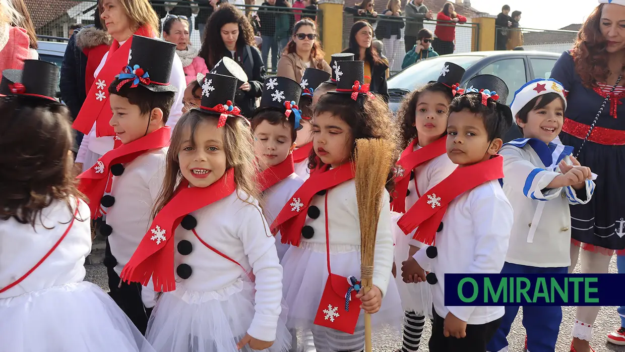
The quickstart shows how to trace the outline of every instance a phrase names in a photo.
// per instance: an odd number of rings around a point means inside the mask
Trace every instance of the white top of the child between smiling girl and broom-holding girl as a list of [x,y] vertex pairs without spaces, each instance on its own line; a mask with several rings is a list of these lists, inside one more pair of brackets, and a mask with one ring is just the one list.
[[[296,173],[292,173],[289,177],[274,184],[264,191],[262,209],[264,211],[265,218],[267,219],[267,223],[273,223],[276,216],[280,213],[282,208],[284,208],[284,204],[291,201],[293,194],[301,187],[302,184],[304,184],[304,181],[299,178]],[[280,261],[282,261],[284,253],[286,253],[286,250],[289,249],[289,244],[281,242],[281,235],[279,231],[276,234],[276,249],[277,257]]]

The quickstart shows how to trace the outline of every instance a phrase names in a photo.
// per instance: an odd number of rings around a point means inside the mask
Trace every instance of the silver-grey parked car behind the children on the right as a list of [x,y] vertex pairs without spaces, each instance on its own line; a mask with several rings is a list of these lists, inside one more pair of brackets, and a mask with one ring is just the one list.
[[[514,91],[523,84],[534,78],[549,78],[551,69],[559,57],[559,54],[542,51],[476,51],[419,61],[388,79],[389,108],[394,112],[397,111],[399,103],[407,93],[429,81],[436,81],[443,64],[447,61],[466,70],[462,82],[459,82],[462,88],[466,88],[467,81],[478,74],[492,74],[501,78],[508,87],[509,105],[512,103]],[[513,124],[506,141],[521,137],[516,124]]]

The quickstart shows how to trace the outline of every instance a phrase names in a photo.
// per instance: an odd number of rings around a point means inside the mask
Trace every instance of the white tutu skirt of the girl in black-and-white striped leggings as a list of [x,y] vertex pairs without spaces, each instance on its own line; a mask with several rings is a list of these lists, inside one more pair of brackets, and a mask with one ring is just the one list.
[[404,311],[414,311],[416,314],[432,319],[430,285],[426,282],[407,284],[401,277],[401,263],[408,259],[410,236],[406,236],[397,226],[393,226],[393,233],[395,237],[395,267],[397,268],[395,283],[399,290],[399,297],[401,297],[401,306]]

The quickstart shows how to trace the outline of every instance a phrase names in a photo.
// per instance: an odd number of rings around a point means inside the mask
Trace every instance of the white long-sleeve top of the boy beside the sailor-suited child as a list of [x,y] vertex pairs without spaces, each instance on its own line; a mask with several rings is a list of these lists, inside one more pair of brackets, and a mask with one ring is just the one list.
[[422,268],[436,274],[438,281],[431,289],[439,316],[451,312],[467,324],[486,324],[504,315],[502,306],[445,306],[445,274],[500,273],[512,221],[512,206],[498,181],[483,183],[449,203],[442,230],[436,234],[436,258],[427,257],[427,246],[413,256]]

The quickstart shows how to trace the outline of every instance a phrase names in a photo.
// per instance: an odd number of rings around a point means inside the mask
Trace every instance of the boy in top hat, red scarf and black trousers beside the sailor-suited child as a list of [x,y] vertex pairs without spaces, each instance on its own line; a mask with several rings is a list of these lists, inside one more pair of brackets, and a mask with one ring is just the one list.
[[501,271],[513,221],[498,181],[504,174],[497,151],[512,123],[506,84],[480,75],[467,86],[496,89],[468,89],[449,106],[446,149],[458,168],[419,198],[414,218],[397,223],[404,233],[418,226],[414,238],[427,245],[403,263],[402,276],[409,282],[417,274],[431,285],[431,352],[486,352],[504,315],[502,306],[444,304],[444,274]]

